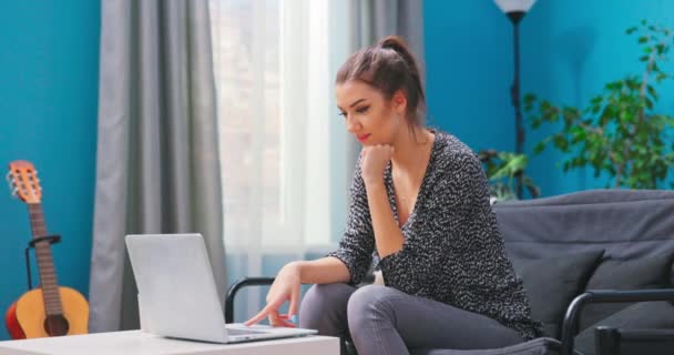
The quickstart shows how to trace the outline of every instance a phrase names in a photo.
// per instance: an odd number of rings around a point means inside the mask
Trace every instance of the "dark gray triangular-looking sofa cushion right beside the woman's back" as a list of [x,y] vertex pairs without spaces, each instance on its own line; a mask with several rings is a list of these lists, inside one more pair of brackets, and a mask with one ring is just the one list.
[[581,293],[604,251],[586,251],[513,262],[529,295],[531,315],[543,323],[548,336],[560,336],[560,325],[569,303]]

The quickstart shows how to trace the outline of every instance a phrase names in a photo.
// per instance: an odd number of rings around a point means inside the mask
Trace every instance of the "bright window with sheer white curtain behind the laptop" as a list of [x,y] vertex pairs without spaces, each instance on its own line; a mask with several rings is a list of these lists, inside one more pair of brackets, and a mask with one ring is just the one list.
[[333,91],[345,31],[330,18],[344,3],[211,1],[228,253],[327,251],[341,236],[354,162]]

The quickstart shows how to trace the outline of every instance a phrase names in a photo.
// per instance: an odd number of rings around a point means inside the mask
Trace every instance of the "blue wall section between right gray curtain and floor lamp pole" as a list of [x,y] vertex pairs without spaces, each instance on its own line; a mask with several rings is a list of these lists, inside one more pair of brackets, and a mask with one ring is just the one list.
[[430,125],[478,151],[514,146],[511,27],[491,1],[425,0]]

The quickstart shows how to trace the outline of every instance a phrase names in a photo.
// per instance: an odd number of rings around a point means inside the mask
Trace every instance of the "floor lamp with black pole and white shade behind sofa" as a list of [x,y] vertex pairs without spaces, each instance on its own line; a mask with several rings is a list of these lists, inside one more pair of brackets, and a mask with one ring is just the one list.
[[[531,9],[535,0],[494,0],[499,9],[508,16],[513,28],[513,52],[514,52],[514,79],[510,88],[512,106],[514,108],[515,123],[515,153],[524,151],[524,124],[522,122],[522,109],[520,106],[520,30],[519,23],[524,14]],[[522,199],[522,174],[517,175],[517,195]]]

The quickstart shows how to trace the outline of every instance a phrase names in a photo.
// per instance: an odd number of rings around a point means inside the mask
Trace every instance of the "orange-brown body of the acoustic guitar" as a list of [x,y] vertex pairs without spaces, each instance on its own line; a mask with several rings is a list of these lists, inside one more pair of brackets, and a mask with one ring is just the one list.
[[[70,288],[59,287],[63,316],[61,320],[49,320],[44,310],[42,288],[23,294],[8,310],[7,328],[14,339],[52,336],[45,331],[48,322],[63,324],[64,335],[86,334],[89,327],[89,303],[82,294]],[[63,320],[64,318],[64,320]]]

